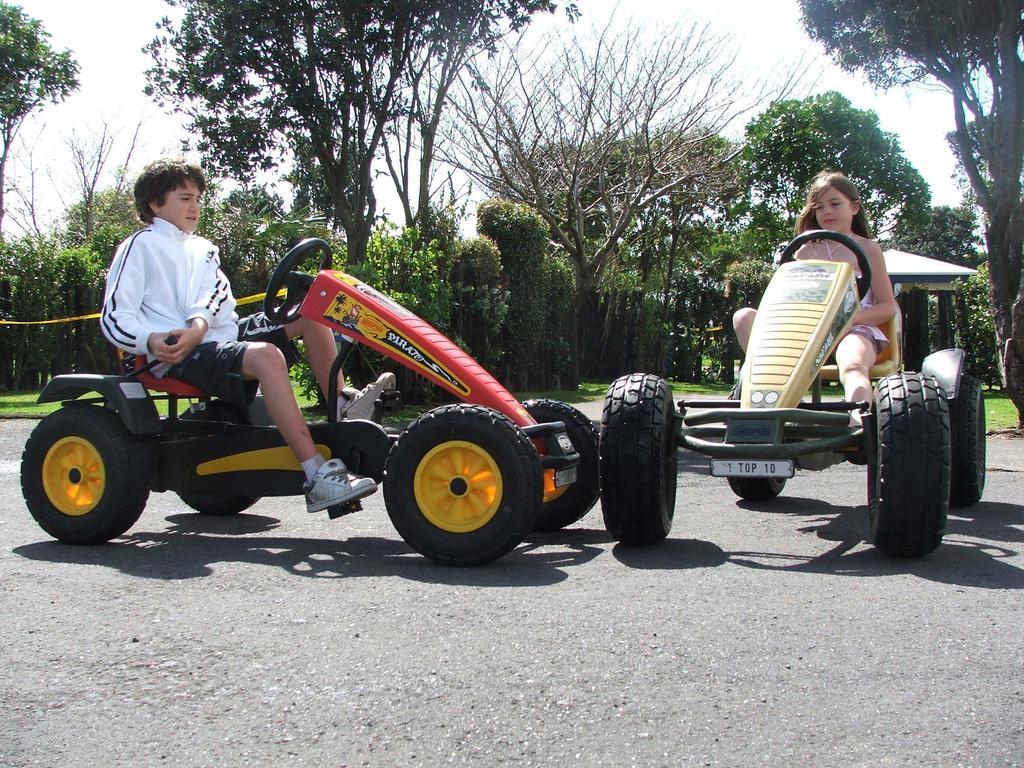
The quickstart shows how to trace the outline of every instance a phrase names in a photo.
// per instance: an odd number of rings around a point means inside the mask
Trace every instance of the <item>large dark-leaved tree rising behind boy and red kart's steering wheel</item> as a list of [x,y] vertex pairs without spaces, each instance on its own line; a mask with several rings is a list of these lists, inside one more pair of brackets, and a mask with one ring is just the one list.
[[[171,0],[148,49],[147,92],[191,118],[215,170],[248,179],[289,153],[329,193],[332,222],[361,261],[377,214],[374,162],[415,108],[409,72],[443,41],[489,44],[553,0]],[[470,42],[471,41],[471,42]],[[439,94],[443,102],[445,94]],[[429,147],[427,147],[429,152]],[[429,156],[428,156],[429,157]],[[429,178],[429,174],[427,174]]]

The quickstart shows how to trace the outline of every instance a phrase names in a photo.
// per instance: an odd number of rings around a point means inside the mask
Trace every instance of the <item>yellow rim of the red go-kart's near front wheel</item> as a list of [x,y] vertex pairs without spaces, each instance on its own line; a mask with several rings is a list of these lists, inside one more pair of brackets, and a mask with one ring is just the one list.
[[420,461],[413,478],[416,503],[432,524],[453,534],[486,525],[502,503],[502,473],[490,454],[450,440]]

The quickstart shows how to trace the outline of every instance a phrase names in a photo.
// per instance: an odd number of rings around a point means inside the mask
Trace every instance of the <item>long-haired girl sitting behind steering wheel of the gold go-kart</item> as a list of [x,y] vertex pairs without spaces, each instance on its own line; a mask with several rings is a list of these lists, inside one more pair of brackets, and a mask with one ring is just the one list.
[[[897,311],[889,272],[878,242],[871,240],[867,215],[860,205],[860,195],[842,173],[822,171],[814,177],[807,191],[807,202],[797,219],[796,233],[810,229],[830,229],[853,238],[864,251],[871,265],[871,287],[860,301],[854,325],[836,348],[836,365],[840,382],[850,402],[871,399],[868,371],[889,343],[879,328],[891,321]],[[806,243],[797,251],[798,259],[846,261],[858,272],[857,258],[849,248],[831,241]],[[739,345],[746,351],[757,310],[744,307],[732,316]],[[852,411],[851,422],[860,425],[860,412]]]

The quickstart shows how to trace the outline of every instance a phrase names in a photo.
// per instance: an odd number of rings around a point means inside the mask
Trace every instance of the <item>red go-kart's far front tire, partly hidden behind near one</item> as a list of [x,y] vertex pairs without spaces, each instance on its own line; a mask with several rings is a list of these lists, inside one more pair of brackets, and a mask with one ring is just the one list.
[[560,400],[536,399],[522,403],[526,413],[539,423],[560,421],[565,424],[565,434],[572,447],[580,454],[577,480],[565,492],[541,505],[541,515],[534,530],[560,530],[571,525],[597,504],[601,486],[597,474],[597,428],[580,411]]

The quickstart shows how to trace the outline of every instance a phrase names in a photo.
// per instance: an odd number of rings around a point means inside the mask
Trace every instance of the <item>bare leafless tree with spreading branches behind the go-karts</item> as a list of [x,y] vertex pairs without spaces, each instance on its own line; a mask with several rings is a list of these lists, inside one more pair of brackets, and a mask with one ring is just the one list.
[[[705,201],[733,180],[718,134],[753,104],[707,28],[627,26],[512,44],[469,69],[451,162],[497,197],[535,208],[575,272],[569,323],[599,362],[597,290],[636,219],[671,195]],[[754,89],[756,90],[756,88]]]

